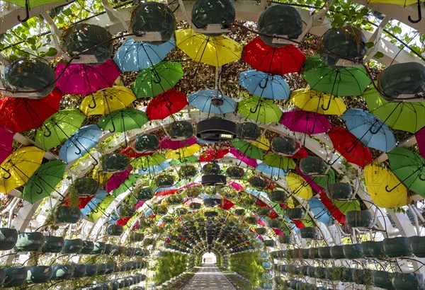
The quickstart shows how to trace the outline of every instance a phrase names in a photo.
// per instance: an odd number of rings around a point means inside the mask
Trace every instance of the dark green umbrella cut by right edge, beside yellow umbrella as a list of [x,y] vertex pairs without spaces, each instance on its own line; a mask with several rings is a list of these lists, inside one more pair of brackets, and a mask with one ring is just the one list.
[[[395,147],[387,152],[392,173],[406,185],[409,190],[425,197],[425,159],[418,153],[402,147]],[[396,185],[397,186],[397,185]],[[392,192],[395,188],[387,187]]]

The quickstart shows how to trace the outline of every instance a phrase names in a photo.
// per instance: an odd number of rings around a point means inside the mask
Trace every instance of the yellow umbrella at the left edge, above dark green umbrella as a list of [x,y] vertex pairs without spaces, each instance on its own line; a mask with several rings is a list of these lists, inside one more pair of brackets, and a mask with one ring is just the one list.
[[0,166],[0,192],[6,194],[26,184],[40,167],[45,151],[29,146],[13,152]]

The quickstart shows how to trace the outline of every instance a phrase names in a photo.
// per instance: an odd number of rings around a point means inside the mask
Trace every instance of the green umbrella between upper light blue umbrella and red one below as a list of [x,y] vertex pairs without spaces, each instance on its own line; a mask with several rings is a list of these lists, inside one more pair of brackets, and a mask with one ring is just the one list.
[[161,62],[140,71],[132,90],[137,98],[152,98],[174,88],[182,77],[183,69],[179,62]]

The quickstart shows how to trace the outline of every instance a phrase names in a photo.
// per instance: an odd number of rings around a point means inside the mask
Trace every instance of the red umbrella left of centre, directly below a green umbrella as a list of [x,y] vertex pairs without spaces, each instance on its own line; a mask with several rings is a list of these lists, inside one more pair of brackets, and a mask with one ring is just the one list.
[[146,115],[149,120],[163,120],[188,105],[188,98],[181,91],[170,88],[160,93],[147,104]]

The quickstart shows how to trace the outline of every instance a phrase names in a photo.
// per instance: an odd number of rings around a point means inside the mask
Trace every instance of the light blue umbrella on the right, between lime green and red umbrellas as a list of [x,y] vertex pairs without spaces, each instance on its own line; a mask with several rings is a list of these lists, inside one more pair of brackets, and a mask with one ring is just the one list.
[[342,119],[347,129],[365,146],[384,152],[395,148],[395,137],[390,127],[370,112],[350,108],[344,112]]

